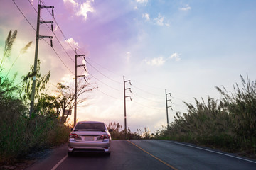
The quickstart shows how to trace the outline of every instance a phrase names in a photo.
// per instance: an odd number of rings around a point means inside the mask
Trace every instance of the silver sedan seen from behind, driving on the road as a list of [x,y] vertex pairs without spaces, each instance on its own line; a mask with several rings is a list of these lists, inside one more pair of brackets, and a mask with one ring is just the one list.
[[111,136],[102,122],[78,122],[70,132],[68,155],[73,152],[103,152],[110,155]]

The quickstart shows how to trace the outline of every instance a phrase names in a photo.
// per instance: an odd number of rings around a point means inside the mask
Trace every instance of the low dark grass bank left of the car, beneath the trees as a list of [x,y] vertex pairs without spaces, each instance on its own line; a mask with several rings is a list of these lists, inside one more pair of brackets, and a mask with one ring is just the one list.
[[24,116],[26,108],[14,98],[1,98],[0,164],[9,164],[31,152],[68,141],[70,128],[53,117]]

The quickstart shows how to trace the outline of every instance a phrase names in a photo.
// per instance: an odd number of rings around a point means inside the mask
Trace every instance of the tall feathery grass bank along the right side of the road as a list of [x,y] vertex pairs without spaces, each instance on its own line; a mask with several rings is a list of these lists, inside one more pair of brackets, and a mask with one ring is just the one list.
[[255,157],[256,83],[241,76],[242,88],[235,84],[233,93],[215,87],[223,98],[186,103],[187,113],[176,113],[169,128],[158,130],[156,139],[191,142]]

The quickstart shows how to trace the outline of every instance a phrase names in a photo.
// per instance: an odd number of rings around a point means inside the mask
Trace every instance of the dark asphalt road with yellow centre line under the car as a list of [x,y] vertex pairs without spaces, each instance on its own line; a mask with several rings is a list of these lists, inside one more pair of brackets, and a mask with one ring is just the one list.
[[113,140],[112,153],[67,155],[54,149],[30,169],[256,169],[256,161],[213,149],[166,140]]

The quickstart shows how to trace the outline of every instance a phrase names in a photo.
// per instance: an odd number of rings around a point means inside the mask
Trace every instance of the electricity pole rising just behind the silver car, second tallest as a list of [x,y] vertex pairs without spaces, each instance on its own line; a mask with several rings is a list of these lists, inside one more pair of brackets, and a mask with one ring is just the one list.
[[78,92],[78,77],[85,77],[85,75],[78,75],[78,67],[85,67],[85,64],[78,65],[78,57],[84,57],[85,55],[78,55],[75,48],[75,108],[74,108],[74,127],[76,124],[76,115],[77,115],[77,92]]

